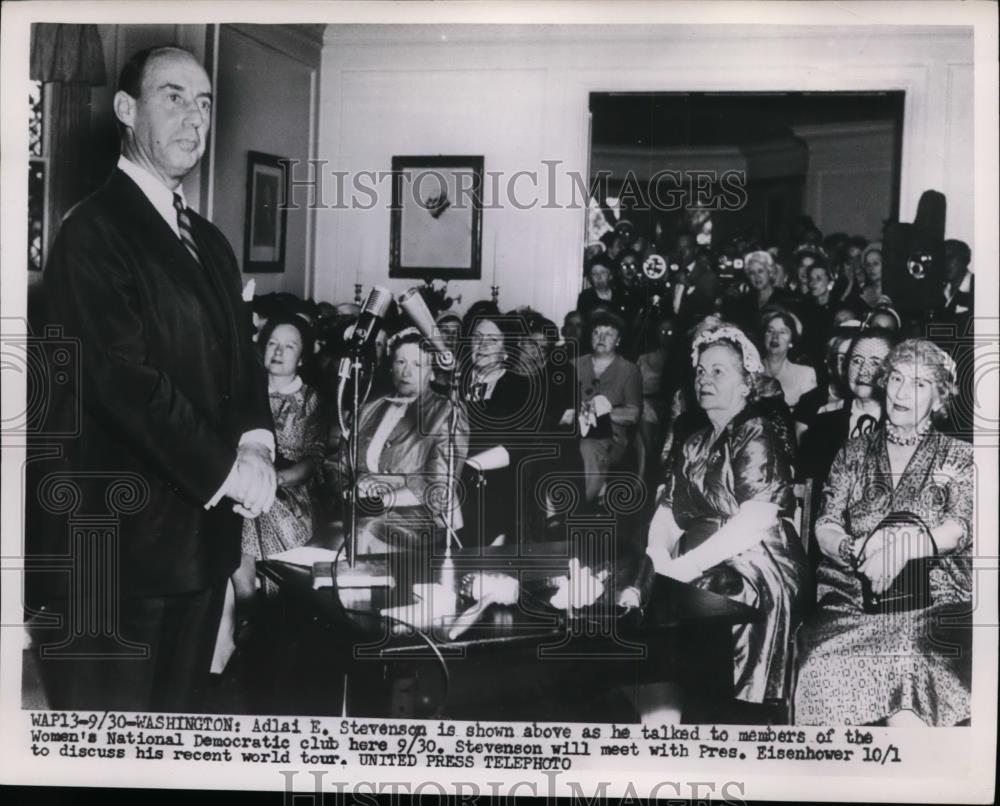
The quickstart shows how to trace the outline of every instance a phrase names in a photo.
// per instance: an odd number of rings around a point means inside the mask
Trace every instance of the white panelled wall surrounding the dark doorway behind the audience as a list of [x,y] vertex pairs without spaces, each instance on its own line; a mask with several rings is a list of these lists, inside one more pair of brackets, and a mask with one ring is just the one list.
[[[393,155],[481,154],[487,171],[539,171],[541,200],[542,160],[561,160],[566,201],[565,174],[588,175],[590,92],[903,90],[902,219],[940,190],[948,236],[971,243],[971,75],[970,29],[331,25],[317,154],[350,173],[387,171]],[[333,187],[327,177],[324,197]],[[317,299],[352,298],[358,271],[366,287],[387,283],[387,207],[319,212]],[[483,280],[452,293],[462,307],[488,296],[495,238],[501,306],[560,316],[580,288],[583,229],[580,209],[486,210]]]

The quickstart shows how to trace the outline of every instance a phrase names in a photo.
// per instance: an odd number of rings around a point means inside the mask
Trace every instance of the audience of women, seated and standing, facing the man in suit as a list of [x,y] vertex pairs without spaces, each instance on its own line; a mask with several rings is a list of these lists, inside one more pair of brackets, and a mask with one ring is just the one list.
[[[735,630],[737,700],[803,724],[967,720],[968,647],[942,651],[933,625],[971,601],[972,450],[951,435],[955,362],[926,326],[971,317],[968,247],[946,244],[940,304],[916,312],[886,295],[878,241],[806,221],[786,245],[726,248],[735,278],[682,234],[654,284],[651,239],[615,230],[561,327],[492,301],[435,310],[453,370],[390,317],[356,456],[332,390],[357,306],[258,300],[282,492],[244,535],[237,589],[255,559],[342,524],[351,492],[360,550],[383,552],[544,539],[559,484],[620,520],[609,483],[631,478],[643,556],[619,603],[644,606],[660,574],[760,610]],[[926,595],[885,606],[918,566]]]

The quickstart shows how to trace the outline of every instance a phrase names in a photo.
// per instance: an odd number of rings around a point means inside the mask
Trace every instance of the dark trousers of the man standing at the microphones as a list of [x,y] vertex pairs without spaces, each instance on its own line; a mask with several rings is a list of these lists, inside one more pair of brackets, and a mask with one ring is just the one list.
[[[38,631],[34,637],[50,707],[200,710],[224,597],[225,584],[192,593],[124,598],[117,634],[77,636],[62,647],[59,641],[65,641],[68,630],[61,639]],[[73,619],[65,621],[68,626]]]

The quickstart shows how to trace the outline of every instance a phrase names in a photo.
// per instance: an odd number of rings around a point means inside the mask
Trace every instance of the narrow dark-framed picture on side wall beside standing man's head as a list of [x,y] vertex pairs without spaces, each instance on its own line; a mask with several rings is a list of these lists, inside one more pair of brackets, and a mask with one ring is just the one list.
[[243,271],[283,272],[288,211],[282,157],[247,152],[247,203],[243,222]]

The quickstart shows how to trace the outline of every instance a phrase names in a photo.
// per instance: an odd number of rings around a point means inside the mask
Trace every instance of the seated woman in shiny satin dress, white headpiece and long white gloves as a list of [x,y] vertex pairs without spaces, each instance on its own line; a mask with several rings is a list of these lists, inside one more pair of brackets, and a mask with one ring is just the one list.
[[[763,372],[738,328],[724,325],[694,342],[698,404],[710,425],[677,453],[649,525],[646,553],[656,573],[760,609],[759,622],[734,629],[734,690],[748,702],[782,698],[807,574],[789,518],[792,471],[769,420],[747,407]],[[639,604],[626,589],[625,606]]]

